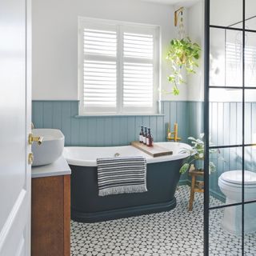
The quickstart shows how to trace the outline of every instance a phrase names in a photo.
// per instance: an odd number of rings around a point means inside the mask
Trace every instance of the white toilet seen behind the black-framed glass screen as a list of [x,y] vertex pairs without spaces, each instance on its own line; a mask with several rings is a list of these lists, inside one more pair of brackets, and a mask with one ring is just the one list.
[[[256,199],[256,173],[245,170],[245,201]],[[218,186],[226,196],[226,204],[242,202],[242,170],[230,170],[218,178]],[[256,202],[245,205],[244,232],[256,231]],[[242,206],[224,210],[222,227],[231,234],[242,234]]]

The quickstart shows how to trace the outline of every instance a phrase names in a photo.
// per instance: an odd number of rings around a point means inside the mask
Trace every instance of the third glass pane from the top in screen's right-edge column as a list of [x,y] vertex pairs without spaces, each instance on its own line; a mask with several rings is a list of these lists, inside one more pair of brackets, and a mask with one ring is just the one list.
[[245,90],[245,143],[256,144],[256,90]]

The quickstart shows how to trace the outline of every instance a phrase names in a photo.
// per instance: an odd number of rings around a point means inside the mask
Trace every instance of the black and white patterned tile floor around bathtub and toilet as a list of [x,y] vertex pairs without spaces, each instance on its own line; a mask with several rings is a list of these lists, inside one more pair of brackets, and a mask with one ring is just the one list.
[[[72,256],[203,255],[203,195],[196,194],[193,210],[188,212],[189,194],[189,186],[180,186],[177,207],[169,212],[108,222],[71,222]],[[240,255],[241,238],[222,230],[222,214],[218,210],[210,215],[210,255]],[[246,235],[245,241],[246,256],[256,255],[256,234]]]

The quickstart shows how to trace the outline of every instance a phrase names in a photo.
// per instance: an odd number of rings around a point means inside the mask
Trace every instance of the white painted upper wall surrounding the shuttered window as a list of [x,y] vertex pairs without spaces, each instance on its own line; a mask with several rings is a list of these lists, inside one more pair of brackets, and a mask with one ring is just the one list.
[[[33,0],[33,99],[78,99],[78,16],[162,27],[162,89],[170,91],[165,60],[174,38],[174,10],[138,0]],[[178,97],[186,100],[186,86]]]

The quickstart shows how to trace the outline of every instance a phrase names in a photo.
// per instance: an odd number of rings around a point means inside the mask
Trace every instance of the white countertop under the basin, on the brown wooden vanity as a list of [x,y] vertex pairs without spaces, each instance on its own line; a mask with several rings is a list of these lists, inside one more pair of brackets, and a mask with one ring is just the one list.
[[50,176],[68,175],[71,174],[70,166],[66,159],[62,156],[57,161],[46,166],[32,167],[32,178],[42,178]]

